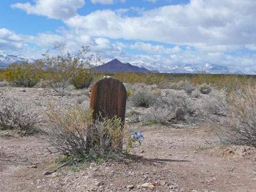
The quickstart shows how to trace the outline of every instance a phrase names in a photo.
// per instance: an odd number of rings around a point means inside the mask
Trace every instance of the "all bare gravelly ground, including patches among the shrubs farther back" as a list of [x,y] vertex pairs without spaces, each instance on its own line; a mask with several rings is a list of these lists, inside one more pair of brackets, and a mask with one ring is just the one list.
[[[46,88],[4,87],[0,97],[15,98],[28,112],[38,112],[41,130],[48,126],[42,113],[48,110],[48,101],[65,111],[79,104],[81,97],[87,104],[90,100],[88,92],[72,90],[59,96]],[[200,103],[205,97],[191,100]],[[139,119],[146,111],[129,102],[126,110],[127,114],[136,111]],[[204,113],[202,108],[198,113]],[[256,191],[256,149],[218,142],[217,130],[223,124],[198,118],[163,125],[133,118],[131,113],[126,115],[126,126],[143,133],[144,141],[141,146],[135,143],[129,155],[84,166],[68,165],[49,175],[44,172],[60,165],[56,159],[63,155],[50,153],[55,149],[44,134],[21,136],[1,130],[0,191]],[[225,118],[216,117],[221,122]]]

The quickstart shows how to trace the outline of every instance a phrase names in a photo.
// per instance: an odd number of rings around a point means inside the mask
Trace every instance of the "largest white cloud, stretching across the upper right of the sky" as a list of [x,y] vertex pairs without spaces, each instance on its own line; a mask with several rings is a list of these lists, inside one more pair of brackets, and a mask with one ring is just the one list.
[[253,10],[256,10],[256,2],[252,0],[191,0],[186,5],[143,11],[136,17],[98,10],[86,16],[76,15],[65,23],[93,36],[188,46],[201,44],[209,51],[220,51],[256,42],[253,27],[256,12]]

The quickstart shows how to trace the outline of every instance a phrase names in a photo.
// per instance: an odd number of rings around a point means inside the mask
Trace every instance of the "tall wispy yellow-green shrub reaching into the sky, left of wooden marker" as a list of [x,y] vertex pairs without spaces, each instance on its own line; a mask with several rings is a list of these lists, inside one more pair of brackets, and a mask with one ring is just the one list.
[[45,68],[42,77],[48,86],[56,92],[67,89],[70,83],[77,89],[89,87],[94,76],[91,63],[98,62],[99,56],[87,56],[89,46],[82,47],[76,57],[66,52],[63,43],[58,43],[54,48],[59,51],[59,55],[50,56],[47,51],[42,62]]

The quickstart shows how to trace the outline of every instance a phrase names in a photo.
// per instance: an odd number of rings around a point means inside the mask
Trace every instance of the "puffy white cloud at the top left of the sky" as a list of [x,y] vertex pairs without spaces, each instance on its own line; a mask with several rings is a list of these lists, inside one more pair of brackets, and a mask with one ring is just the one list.
[[84,0],[35,0],[35,5],[30,3],[17,3],[11,5],[26,11],[28,14],[44,15],[55,19],[68,19],[76,14],[78,8],[83,7]]

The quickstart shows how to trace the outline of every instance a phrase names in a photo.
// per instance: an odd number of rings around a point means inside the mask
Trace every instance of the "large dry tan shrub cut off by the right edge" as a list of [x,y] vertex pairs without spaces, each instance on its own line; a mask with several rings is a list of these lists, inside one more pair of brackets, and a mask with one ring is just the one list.
[[228,96],[232,121],[220,131],[228,141],[256,147],[256,89],[244,87]]

